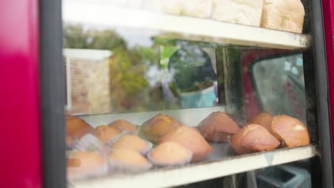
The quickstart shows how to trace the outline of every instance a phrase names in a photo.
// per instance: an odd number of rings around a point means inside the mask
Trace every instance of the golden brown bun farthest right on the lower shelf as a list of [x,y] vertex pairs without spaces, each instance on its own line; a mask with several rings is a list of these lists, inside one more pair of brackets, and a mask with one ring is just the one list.
[[270,132],[284,142],[288,147],[298,147],[310,144],[308,128],[293,117],[288,115],[277,115],[273,117]]

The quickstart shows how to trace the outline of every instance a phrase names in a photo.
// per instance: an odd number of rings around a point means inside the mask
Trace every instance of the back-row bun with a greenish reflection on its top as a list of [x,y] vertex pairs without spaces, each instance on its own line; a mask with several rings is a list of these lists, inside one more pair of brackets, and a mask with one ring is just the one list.
[[158,114],[141,125],[141,134],[156,143],[161,136],[181,126],[181,122],[170,115]]

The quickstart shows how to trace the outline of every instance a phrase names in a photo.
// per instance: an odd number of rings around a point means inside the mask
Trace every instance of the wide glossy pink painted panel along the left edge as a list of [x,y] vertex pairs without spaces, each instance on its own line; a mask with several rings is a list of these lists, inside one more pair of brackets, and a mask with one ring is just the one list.
[[0,1],[0,187],[41,186],[38,1]]

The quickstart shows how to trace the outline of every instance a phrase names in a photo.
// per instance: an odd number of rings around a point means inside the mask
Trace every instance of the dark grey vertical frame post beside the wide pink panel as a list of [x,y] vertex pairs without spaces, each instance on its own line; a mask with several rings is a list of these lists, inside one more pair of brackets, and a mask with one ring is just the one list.
[[39,68],[44,188],[65,188],[65,91],[61,0],[39,1]]

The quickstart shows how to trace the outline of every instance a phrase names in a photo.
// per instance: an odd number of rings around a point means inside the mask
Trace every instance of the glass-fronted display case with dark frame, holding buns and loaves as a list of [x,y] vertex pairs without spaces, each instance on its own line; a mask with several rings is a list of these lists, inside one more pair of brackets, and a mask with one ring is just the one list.
[[322,6],[39,4],[44,187],[333,187]]

